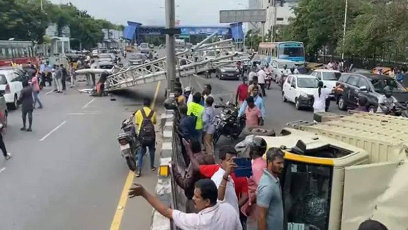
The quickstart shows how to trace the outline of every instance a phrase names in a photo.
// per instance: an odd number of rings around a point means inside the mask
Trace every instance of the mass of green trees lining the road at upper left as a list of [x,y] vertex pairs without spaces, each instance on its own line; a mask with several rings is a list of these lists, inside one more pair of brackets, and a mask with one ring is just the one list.
[[[82,42],[83,47],[96,46],[104,38],[102,29],[123,30],[122,25],[115,25],[105,19],[95,19],[86,11],[80,11],[71,3],[52,4],[43,0],[0,0],[0,39],[44,41],[45,29],[49,23],[56,23],[58,35],[68,26],[71,38]],[[78,47],[77,47],[78,48]]]

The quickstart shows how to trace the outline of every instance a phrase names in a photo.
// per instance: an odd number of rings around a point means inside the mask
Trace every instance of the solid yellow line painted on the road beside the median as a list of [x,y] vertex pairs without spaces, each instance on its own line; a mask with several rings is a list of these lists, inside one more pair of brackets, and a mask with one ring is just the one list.
[[[157,95],[159,94],[160,82],[157,83],[155,96],[151,102],[150,108],[154,109],[156,106]],[[133,171],[129,171],[126,177],[126,182],[124,183],[122,194],[120,195],[118,206],[116,207],[115,215],[113,216],[113,220],[111,223],[110,230],[119,230],[120,223],[122,222],[122,217],[124,213],[124,208],[126,207],[127,203],[127,193],[129,189],[132,187],[133,180],[135,178],[135,173]]]

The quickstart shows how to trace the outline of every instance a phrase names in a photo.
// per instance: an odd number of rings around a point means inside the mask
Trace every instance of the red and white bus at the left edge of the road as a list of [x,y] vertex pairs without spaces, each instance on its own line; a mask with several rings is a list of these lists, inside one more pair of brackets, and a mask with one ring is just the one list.
[[0,66],[37,63],[34,45],[31,41],[0,41]]

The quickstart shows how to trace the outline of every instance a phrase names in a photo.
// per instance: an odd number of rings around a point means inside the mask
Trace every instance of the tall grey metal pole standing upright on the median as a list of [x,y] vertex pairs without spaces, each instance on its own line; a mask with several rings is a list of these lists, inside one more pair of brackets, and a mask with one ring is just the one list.
[[[175,27],[175,12],[174,0],[166,0],[166,28],[172,29]],[[166,34],[166,69],[167,69],[167,90],[174,92],[175,81],[175,48],[174,35]]]

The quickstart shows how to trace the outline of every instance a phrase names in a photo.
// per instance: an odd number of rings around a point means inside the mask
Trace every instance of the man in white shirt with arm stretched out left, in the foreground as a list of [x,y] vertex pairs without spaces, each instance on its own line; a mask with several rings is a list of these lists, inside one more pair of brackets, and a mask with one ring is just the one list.
[[182,229],[200,230],[242,230],[239,215],[228,203],[217,202],[217,187],[210,179],[202,179],[194,186],[194,207],[198,213],[184,213],[164,205],[159,198],[151,195],[141,185],[130,189],[129,197],[142,196],[163,216],[173,220]]

